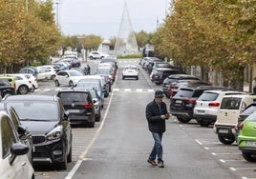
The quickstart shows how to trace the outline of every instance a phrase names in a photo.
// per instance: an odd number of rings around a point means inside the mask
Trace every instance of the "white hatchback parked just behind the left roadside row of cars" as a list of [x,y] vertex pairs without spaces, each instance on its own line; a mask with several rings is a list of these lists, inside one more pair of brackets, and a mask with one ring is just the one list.
[[54,84],[56,87],[60,85],[74,87],[84,76],[85,75],[77,70],[60,70],[56,73]]

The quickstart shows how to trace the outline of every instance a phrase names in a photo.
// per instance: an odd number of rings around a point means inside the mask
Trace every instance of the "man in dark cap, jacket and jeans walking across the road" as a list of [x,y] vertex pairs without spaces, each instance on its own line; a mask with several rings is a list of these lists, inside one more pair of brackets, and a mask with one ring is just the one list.
[[[152,166],[164,168],[162,160],[161,138],[165,131],[165,120],[169,119],[166,104],[162,102],[163,93],[161,90],[155,91],[155,99],[146,106],[146,118],[148,121],[148,129],[152,132],[155,145],[152,149],[147,162]],[[155,160],[158,159],[158,164]]]

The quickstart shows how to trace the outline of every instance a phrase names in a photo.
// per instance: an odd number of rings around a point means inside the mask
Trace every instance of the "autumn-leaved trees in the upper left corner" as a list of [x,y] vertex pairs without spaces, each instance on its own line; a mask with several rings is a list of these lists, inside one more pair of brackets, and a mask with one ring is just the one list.
[[0,0],[0,72],[19,70],[33,60],[45,63],[61,44],[53,2]]

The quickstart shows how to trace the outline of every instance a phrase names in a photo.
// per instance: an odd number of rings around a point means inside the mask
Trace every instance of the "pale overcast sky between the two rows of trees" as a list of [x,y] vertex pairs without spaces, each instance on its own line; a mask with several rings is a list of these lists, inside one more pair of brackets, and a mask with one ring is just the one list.
[[[56,2],[56,1],[54,1]],[[54,5],[65,35],[96,34],[104,39],[117,37],[125,0],[59,0]],[[169,0],[126,0],[133,29],[154,32],[163,22]],[[58,8],[57,8],[58,7]]]

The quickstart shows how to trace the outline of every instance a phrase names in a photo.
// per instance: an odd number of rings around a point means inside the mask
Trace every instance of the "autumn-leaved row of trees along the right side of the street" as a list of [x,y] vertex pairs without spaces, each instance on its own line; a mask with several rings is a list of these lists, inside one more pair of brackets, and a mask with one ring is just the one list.
[[173,8],[153,34],[155,50],[183,67],[220,71],[242,89],[256,57],[256,1],[176,0]]

